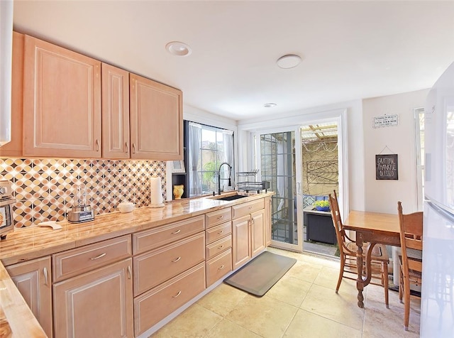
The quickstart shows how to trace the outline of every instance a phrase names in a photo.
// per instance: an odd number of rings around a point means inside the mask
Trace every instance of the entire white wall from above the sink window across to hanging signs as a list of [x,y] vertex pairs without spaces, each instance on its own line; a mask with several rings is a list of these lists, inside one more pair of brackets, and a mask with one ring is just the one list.
[[[428,89],[372,99],[341,102],[323,107],[292,111],[279,119],[262,117],[234,121],[207,111],[184,106],[184,119],[219,126],[236,132],[236,170],[250,169],[250,131],[305,124],[329,119],[346,111],[348,145],[348,197],[345,212],[367,210],[397,214],[397,201],[405,212],[416,211],[416,148],[414,109],[423,107]],[[399,125],[373,129],[374,116],[399,114]],[[399,155],[399,180],[375,180],[375,155],[387,146]],[[385,152],[384,152],[385,153]],[[347,190],[347,189],[345,189]],[[347,195],[348,193],[348,195]]]

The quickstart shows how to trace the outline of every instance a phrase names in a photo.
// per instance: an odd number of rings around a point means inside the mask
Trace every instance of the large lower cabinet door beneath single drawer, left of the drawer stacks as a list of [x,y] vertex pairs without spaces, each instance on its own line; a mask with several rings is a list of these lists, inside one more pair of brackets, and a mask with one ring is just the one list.
[[132,258],[53,286],[55,337],[133,337]]

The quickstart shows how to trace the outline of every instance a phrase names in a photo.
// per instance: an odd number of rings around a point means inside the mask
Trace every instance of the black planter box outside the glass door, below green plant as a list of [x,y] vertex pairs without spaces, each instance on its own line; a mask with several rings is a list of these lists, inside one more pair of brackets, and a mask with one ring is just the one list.
[[336,244],[336,230],[333,226],[331,212],[316,210],[304,211],[306,214],[306,239],[326,244]]

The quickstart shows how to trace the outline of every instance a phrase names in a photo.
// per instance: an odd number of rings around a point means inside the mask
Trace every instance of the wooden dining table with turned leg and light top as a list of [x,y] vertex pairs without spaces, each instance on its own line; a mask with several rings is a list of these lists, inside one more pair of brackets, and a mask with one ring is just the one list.
[[[377,212],[361,212],[352,210],[347,219],[343,222],[345,230],[352,230],[356,233],[356,245],[358,246],[356,263],[358,267],[358,306],[364,307],[362,290],[370,283],[372,277],[370,257],[375,244],[386,244],[400,246],[399,216],[397,214],[381,214]],[[365,249],[366,271],[363,276],[363,250],[362,244],[369,243]]]

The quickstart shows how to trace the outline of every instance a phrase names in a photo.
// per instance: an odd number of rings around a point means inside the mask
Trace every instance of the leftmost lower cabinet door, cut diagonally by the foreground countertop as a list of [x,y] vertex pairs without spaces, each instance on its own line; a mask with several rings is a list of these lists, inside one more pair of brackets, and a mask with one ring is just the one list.
[[45,334],[52,337],[50,257],[6,266],[6,271],[43,327]]

